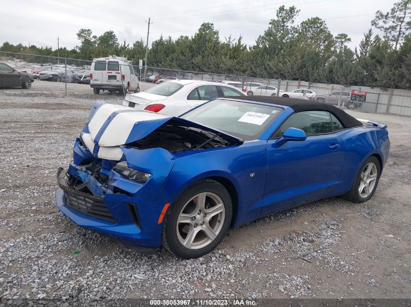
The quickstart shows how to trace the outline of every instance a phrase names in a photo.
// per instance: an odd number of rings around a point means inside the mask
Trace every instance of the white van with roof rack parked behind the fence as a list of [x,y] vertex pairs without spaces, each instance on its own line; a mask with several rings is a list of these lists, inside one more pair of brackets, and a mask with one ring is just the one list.
[[140,92],[137,71],[126,58],[110,55],[94,59],[90,69],[90,87],[94,94],[100,91],[134,93]]

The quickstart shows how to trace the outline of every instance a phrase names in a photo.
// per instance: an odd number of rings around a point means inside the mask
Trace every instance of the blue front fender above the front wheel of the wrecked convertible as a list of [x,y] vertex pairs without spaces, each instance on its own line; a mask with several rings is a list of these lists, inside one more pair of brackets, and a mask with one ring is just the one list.
[[[176,163],[165,181],[156,201],[170,203],[171,206],[185,189],[195,182],[211,177],[229,180],[236,190],[238,203],[237,218],[242,212],[258,214],[262,207],[267,175],[267,141],[245,142],[239,146],[201,150],[176,157]],[[226,187],[228,188],[228,187]]]

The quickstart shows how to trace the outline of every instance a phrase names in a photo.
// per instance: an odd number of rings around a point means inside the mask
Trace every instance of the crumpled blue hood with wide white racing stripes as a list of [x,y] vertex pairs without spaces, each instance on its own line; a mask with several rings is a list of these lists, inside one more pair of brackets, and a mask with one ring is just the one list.
[[89,133],[91,140],[99,146],[119,146],[141,140],[169,121],[176,121],[184,126],[220,133],[229,142],[243,142],[241,139],[223,131],[183,118],[135,110],[105,101],[96,101],[91,108],[89,114]]

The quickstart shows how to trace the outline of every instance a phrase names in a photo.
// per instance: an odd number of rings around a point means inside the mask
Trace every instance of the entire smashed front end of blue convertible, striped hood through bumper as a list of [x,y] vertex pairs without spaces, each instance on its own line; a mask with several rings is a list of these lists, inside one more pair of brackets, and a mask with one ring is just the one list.
[[161,244],[157,199],[179,155],[240,145],[197,123],[97,102],[74,143],[73,162],[59,168],[57,207],[79,226],[145,249]]

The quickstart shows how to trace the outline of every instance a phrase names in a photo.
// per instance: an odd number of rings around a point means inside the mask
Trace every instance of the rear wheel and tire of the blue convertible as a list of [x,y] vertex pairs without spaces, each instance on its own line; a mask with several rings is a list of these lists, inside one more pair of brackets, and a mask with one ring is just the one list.
[[350,192],[343,195],[344,199],[353,203],[363,203],[373,197],[381,175],[381,167],[375,156],[362,163]]

